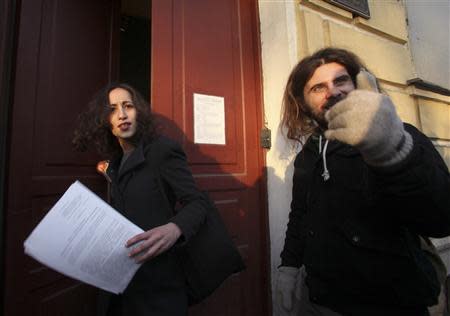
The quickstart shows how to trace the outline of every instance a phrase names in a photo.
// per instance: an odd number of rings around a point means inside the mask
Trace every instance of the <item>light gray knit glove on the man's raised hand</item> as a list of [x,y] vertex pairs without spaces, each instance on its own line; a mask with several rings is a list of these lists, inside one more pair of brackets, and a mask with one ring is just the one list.
[[368,91],[376,90],[376,84],[367,72],[358,74],[357,86],[325,114],[325,137],[356,147],[369,165],[389,166],[402,161],[410,153],[413,141],[391,99]]

